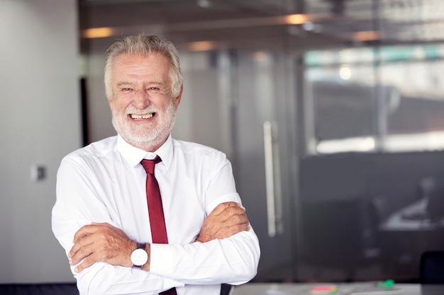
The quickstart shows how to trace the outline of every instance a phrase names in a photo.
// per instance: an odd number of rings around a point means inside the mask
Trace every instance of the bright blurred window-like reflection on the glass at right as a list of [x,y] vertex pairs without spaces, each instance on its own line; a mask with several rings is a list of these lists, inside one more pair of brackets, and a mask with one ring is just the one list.
[[309,152],[444,149],[443,54],[439,44],[307,52]]

